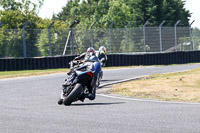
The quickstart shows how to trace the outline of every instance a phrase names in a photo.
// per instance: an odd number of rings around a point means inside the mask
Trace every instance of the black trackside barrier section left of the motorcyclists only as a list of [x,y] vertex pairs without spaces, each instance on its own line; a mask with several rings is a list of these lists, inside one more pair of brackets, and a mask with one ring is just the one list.
[[74,57],[2,58],[0,59],[0,71],[69,68],[69,61]]

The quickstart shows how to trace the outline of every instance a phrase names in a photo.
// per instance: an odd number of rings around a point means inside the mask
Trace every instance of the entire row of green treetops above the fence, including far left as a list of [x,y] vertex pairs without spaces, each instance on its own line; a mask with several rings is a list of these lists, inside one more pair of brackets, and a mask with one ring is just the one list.
[[[98,22],[96,28],[108,28],[115,21],[114,28],[124,28],[130,21],[132,27],[142,26],[147,20],[149,26],[158,26],[166,20],[165,26],[174,26],[181,20],[180,25],[188,26],[190,13],[184,8],[182,0],[68,0],[58,14],[52,19],[38,17],[39,9],[44,0],[1,0],[0,22],[3,29],[22,28],[26,21],[27,28],[47,28],[52,21],[52,28],[67,28],[75,19],[80,23],[77,28],[90,28]],[[50,7],[53,8],[53,7]]]

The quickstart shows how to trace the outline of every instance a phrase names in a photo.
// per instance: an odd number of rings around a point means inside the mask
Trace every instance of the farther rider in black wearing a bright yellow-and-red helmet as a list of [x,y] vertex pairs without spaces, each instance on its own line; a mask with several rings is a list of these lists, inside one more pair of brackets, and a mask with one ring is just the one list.
[[99,48],[99,51],[97,51],[96,56],[99,58],[101,65],[105,66],[105,63],[107,61],[107,55],[106,55],[106,48],[104,46],[101,46]]

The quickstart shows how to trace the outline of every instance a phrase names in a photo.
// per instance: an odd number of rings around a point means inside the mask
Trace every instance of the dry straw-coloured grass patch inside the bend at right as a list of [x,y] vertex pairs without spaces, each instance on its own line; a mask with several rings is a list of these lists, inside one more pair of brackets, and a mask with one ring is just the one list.
[[164,101],[200,102],[200,69],[154,74],[113,85],[111,93]]

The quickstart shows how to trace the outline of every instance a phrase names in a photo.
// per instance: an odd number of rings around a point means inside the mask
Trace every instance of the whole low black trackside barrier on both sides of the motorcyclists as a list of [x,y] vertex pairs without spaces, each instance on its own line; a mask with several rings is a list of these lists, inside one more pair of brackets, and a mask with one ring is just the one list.
[[[200,51],[154,54],[110,54],[106,66],[169,65],[200,62]],[[40,58],[2,58],[0,71],[37,70],[69,68],[69,62],[76,56],[55,56]]]

